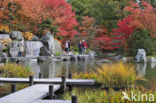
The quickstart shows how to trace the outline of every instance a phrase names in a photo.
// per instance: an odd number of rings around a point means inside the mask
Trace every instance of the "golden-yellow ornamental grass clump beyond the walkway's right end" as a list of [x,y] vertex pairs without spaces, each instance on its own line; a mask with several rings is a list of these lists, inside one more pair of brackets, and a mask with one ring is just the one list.
[[122,62],[103,64],[95,71],[74,74],[74,78],[96,79],[97,82],[107,87],[128,87],[133,85],[138,79],[145,80],[143,77],[136,75],[133,65]]

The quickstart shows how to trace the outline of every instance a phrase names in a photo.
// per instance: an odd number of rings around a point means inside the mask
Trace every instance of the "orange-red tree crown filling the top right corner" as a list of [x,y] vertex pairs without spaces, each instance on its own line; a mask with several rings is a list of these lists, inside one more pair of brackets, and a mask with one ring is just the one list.
[[124,10],[130,13],[130,16],[134,19],[132,23],[138,28],[148,30],[152,36],[156,33],[156,13],[150,4],[142,1],[141,5],[139,5],[136,2],[130,1]]

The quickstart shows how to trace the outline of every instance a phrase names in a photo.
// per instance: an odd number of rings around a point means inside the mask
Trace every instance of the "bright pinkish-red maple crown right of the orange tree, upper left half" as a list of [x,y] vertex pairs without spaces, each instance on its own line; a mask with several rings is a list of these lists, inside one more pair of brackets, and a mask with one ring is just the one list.
[[75,13],[65,0],[44,0],[48,17],[53,19],[54,26],[58,26],[58,35],[73,37],[77,34],[74,27],[78,25]]

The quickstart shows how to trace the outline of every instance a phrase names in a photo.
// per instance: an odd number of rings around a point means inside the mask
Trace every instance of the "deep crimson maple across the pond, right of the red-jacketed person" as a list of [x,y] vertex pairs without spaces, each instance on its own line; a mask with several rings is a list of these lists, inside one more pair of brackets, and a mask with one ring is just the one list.
[[131,25],[133,18],[128,16],[123,20],[118,21],[118,28],[112,29],[112,33],[108,35],[105,29],[98,32],[98,37],[96,38],[98,46],[103,50],[114,50],[122,46],[127,45],[127,40],[130,35],[134,32],[135,26]]

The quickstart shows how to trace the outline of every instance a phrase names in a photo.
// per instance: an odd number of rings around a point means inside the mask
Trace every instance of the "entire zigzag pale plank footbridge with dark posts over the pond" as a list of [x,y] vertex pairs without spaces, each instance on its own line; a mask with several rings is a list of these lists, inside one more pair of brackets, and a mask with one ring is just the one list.
[[[29,83],[31,85],[0,98],[0,103],[77,103],[77,96],[72,96],[71,100],[55,100],[53,98],[55,96],[54,93],[60,89],[64,90],[66,85],[92,86],[95,84],[95,80],[67,78],[37,79],[30,76],[29,78],[0,78],[0,83]],[[49,100],[43,99],[47,96],[50,98]]]

